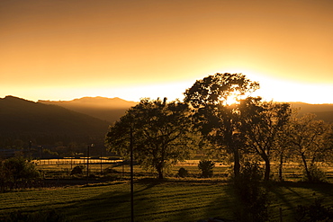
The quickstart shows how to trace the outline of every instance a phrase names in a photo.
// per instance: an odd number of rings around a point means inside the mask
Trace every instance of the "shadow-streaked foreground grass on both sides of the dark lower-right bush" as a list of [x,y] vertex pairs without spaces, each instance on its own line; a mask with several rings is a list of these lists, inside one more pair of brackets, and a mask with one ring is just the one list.
[[[270,215],[294,221],[297,205],[323,198],[333,206],[332,184],[276,183],[270,187]],[[238,201],[232,183],[193,181],[140,181],[135,186],[135,221],[197,221],[200,218],[234,218]],[[56,209],[69,221],[130,221],[128,182],[101,183],[42,191],[0,194],[0,218],[20,210],[30,213]]]

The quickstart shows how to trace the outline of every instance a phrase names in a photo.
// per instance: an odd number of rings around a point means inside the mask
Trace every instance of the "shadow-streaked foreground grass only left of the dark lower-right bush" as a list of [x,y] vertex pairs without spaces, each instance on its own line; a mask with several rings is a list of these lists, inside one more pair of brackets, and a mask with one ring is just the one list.
[[[232,198],[219,199],[229,186],[188,182],[135,184],[136,221],[196,221],[218,215]],[[2,217],[14,210],[32,212],[58,209],[73,221],[130,221],[130,187],[127,183],[80,188],[21,191],[0,194]],[[229,200],[228,200],[229,199]],[[231,217],[231,214],[228,214]]]

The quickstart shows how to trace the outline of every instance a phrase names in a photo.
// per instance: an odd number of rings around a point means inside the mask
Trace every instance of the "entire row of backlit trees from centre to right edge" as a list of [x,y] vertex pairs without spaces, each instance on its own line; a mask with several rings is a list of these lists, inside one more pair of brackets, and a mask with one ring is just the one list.
[[127,158],[133,138],[135,160],[159,179],[170,165],[200,151],[207,159],[231,160],[236,180],[248,161],[265,163],[265,181],[272,162],[280,180],[287,162],[302,164],[307,181],[320,180],[320,164],[332,157],[333,124],[314,114],[298,117],[289,103],[251,96],[258,88],[246,75],[216,73],[195,81],[184,101],[141,99],[112,124],[105,144]]

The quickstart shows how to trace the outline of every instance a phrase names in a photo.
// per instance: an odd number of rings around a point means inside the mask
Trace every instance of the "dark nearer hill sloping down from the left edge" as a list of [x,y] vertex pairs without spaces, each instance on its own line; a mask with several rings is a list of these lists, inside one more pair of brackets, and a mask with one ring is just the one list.
[[[0,99],[1,136],[103,138],[109,122],[56,105],[31,102],[14,96]],[[20,138],[21,139],[21,138]]]

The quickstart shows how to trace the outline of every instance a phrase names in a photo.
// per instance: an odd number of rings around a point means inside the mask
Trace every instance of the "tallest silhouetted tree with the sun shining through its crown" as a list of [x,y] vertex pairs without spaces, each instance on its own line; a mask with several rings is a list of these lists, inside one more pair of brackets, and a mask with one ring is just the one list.
[[228,104],[230,97],[243,97],[259,88],[242,74],[209,75],[197,80],[184,93],[184,102],[193,107],[195,126],[211,144],[225,148],[233,155],[234,174],[239,175],[239,148],[242,137],[238,134],[238,104]]

